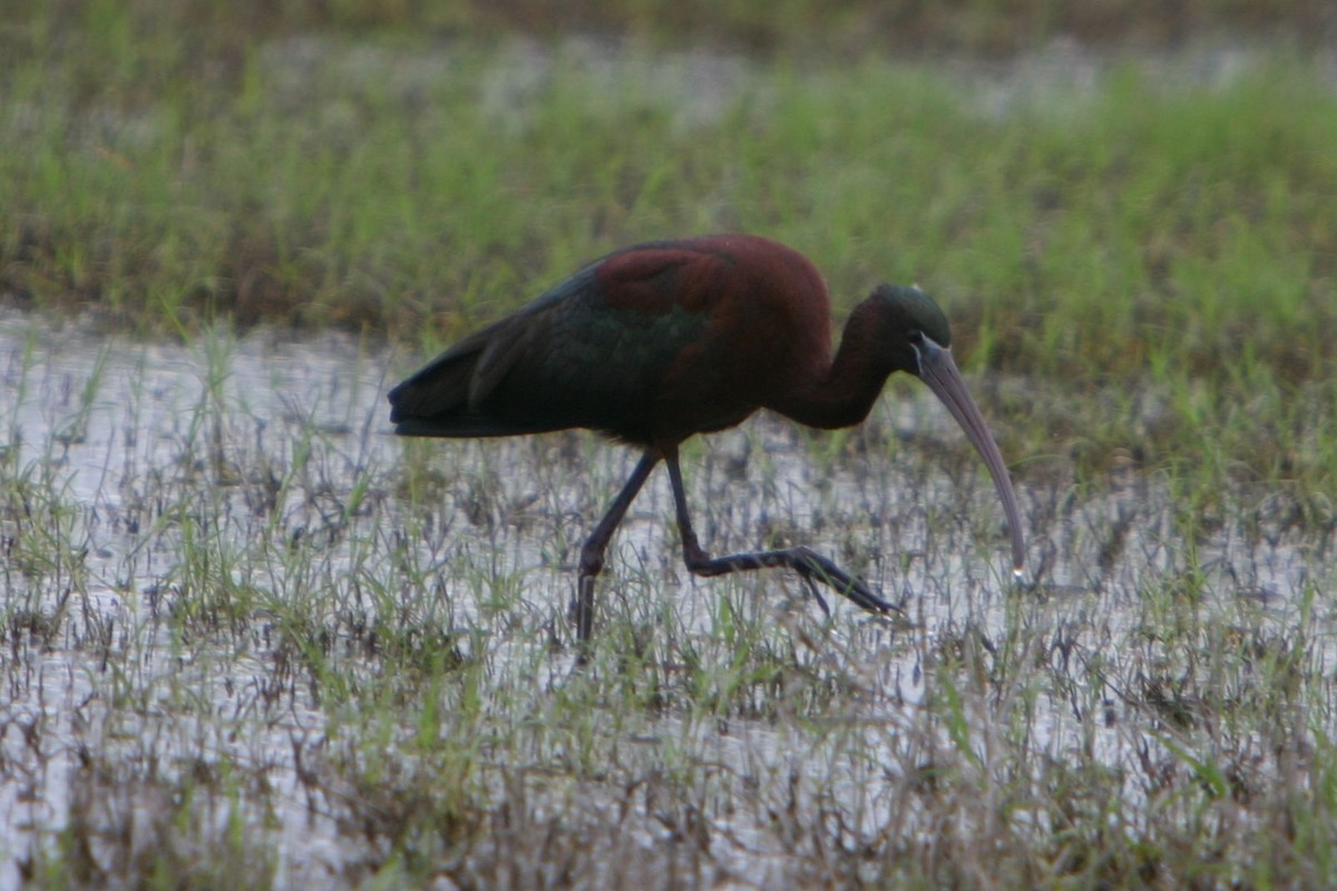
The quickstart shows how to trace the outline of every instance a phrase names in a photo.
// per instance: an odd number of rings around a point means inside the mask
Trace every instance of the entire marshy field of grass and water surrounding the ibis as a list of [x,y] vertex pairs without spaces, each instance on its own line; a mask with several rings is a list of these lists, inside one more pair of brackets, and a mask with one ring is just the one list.
[[[1326,4],[1277,44],[1231,1],[710,5],[20,0],[0,888],[1332,886]],[[1138,52],[1090,48],[1115,20]],[[691,578],[659,473],[574,669],[635,456],[398,441],[384,393],[580,262],[723,230],[837,315],[939,297],[1027,585],[893,381],[683,469],[707,548],[812,545],[904,617]]]

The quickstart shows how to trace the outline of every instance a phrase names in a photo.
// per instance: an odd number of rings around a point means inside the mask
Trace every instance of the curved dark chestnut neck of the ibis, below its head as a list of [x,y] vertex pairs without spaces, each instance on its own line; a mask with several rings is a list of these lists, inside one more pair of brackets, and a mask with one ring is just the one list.
[[873,317],[869,305],[856,307],[845,323],[836,358],[824,373],[769,407],[822,430],[850,427],[866,418],[892,373],[892,366],[878,355]]

